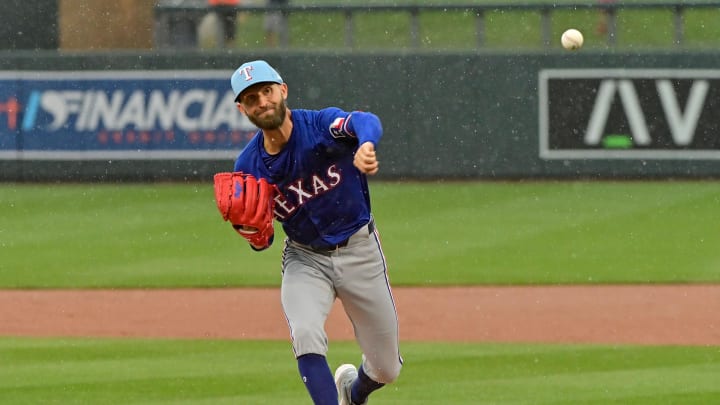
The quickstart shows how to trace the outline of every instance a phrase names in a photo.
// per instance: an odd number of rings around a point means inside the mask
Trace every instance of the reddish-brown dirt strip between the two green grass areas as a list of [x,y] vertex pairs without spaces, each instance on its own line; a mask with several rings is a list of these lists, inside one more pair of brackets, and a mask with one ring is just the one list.
[[[720,285],[395,288],[401,340],[720,345]],[[0,290],[0,335],[288,339],[277,289]],[[353,338],[339,302],[330,339]]]

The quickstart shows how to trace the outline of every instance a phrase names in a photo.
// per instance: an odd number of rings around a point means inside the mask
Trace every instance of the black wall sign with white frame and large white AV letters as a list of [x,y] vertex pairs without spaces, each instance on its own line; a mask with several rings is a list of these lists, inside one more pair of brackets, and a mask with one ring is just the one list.
[[720,70],[542,70],[543,159],[720,159]]

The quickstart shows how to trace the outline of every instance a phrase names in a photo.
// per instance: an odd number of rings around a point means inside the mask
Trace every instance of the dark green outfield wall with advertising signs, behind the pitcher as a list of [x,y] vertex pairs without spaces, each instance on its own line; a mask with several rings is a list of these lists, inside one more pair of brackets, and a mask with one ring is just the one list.
[[291,108],[377,113],[387,179],[720,175],[714,53],[2,56],[6,181],[228,170],[252,132],[230,113],[229,75],[255,58],[280,70]]

